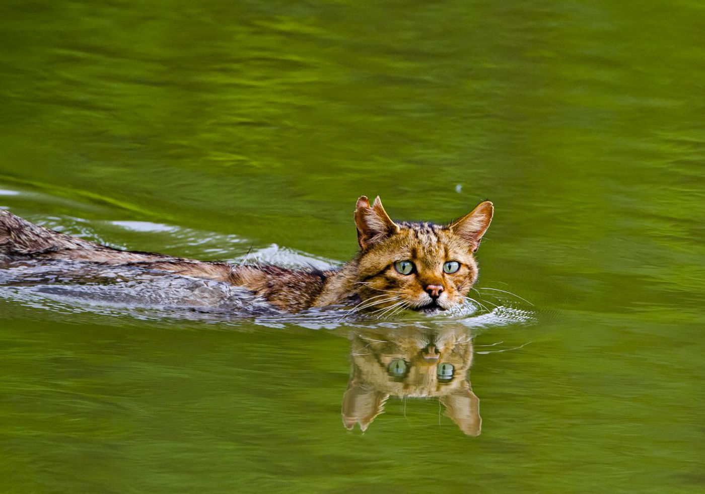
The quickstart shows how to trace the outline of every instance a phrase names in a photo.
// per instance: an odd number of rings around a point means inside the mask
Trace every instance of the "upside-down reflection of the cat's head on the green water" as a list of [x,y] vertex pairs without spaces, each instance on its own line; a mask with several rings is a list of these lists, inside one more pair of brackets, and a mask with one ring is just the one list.
[[472,340],[467,329],[357,332],[351,337],[353,362],[343,397],[343,424],[365,431],[390,396],[438,398],[446,415],[468,436],[478,436],[479,400],[467,372]]

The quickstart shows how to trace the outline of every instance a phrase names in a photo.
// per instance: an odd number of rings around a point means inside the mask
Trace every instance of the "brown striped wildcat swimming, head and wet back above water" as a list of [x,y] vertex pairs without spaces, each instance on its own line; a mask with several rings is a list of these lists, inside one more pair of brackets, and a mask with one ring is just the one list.
[[474,252],[493,213],[493,204],[485,201],[447,225],[395,223],[379,197],[370,204],[362,196],[355,205],[360,251],[341,268],[319,271],[114,249],[0,210],[0,260],[68,259],[218,280],[247,288],[293,313],[335,304],[378,314],[404,309],[432,313],[462,303],[477,280]]

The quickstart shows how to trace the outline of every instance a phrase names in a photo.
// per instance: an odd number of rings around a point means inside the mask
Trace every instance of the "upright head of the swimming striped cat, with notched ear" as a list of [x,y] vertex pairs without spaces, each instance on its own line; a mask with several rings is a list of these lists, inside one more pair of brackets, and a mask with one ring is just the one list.
[[460,304],[477,280],[473,253],[489,227],[489,201],[448,225],[395,223],[377,197],[357,199],[360,244],[357,293],[383,315],[403,309],[436,311]]

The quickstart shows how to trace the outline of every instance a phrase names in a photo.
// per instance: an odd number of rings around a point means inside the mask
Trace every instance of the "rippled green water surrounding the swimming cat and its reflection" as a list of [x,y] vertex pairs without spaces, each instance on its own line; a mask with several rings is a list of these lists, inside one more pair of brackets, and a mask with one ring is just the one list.
[[534,307],[478,331],[472,438],[434,400],[346,431],[345,324],[6,294],[0,490],[704,492],[704,23],[689,0],[4,0],[1,207],[344,261],[360,194],[433,221],[489,198],[480,285]]

